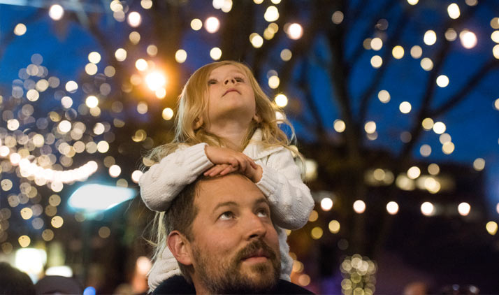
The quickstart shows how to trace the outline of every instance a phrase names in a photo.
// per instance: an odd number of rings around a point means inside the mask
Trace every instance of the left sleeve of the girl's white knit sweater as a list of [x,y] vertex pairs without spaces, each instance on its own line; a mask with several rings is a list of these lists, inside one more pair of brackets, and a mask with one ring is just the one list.
[[164,157],[145,172],[138,185],[147,208],[166,211],[182,189],[213,166],[205,154],[206,143],[177,150]]

